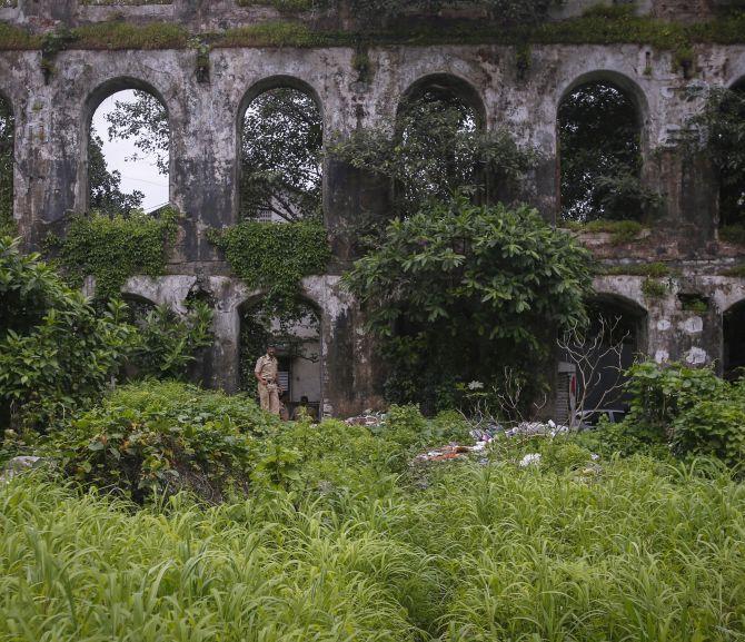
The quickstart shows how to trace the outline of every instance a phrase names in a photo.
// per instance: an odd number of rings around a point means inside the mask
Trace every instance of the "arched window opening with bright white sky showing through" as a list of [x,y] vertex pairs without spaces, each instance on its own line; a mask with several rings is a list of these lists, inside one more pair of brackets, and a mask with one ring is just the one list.
[[168,110],[143,88],[103,93],[88,139],[88,208],[157,211],[169,203]]

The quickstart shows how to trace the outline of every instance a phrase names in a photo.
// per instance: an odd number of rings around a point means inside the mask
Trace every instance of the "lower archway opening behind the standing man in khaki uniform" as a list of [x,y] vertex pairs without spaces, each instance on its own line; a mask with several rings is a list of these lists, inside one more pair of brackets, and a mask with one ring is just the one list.
[[321,406],[320,317],[316,308],[300,302],[292,318],[269,318],[260,300],[240,309],[240,387],[256,392],[254,368],[269,344],[277,348],[280,397],[290,417],[305,402],[319,416]]

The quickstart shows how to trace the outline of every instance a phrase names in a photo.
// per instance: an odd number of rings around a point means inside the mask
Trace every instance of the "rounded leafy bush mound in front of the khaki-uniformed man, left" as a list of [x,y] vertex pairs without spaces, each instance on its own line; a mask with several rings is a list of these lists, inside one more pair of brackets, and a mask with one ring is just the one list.
[[147,381],[79,413],[44,451],[83,484],[138,502],[182,488],[213,501],[247,484],[254,435],[275,425],[247,397]]

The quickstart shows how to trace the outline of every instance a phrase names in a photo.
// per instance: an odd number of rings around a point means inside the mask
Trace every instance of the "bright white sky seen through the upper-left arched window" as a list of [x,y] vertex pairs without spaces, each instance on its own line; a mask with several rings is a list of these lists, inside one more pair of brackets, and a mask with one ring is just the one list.
[[[155,156],[143,156],[135,147],[135,140],[109,140],[109,124],[106,115],[115,109],[115,101],[135,100],[132,90],[118,91],[109,96],[93,113],[93,128],[103,140],[103,158],[109,171],[117,169],[121,174],[121,191],[132,192],[139,189],[145,194],[142,207],[146,211],[168,203],[168,176],[158,172]],[[139,160],[127,160],[138,155]]]

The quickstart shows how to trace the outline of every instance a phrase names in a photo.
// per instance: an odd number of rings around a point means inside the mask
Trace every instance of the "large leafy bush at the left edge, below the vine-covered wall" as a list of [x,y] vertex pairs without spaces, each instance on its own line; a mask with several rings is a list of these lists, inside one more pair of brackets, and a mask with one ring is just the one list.
[[129,350],[121,304],[103,314],[67,287],[39,255],[0,238],[0,424],[44,429],[90,402]]

